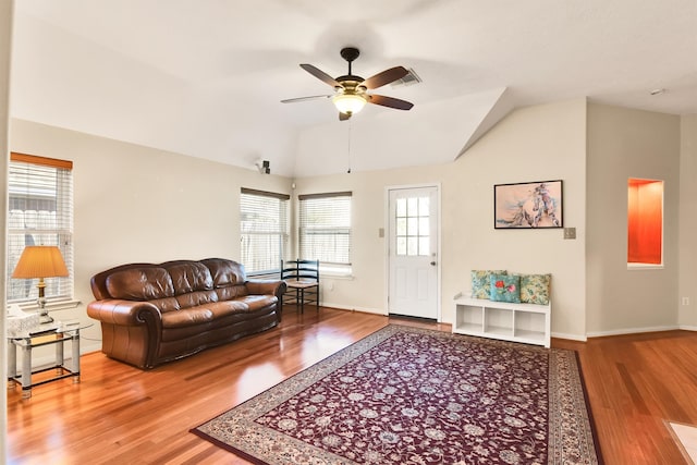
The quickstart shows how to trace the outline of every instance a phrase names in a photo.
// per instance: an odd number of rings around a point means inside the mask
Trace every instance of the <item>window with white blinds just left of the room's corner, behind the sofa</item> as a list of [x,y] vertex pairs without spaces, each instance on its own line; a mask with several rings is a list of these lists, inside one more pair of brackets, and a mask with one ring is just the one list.
[[240,228],[242,264],[247,274],[281,272],[289,242],[291,196],[242,188]]

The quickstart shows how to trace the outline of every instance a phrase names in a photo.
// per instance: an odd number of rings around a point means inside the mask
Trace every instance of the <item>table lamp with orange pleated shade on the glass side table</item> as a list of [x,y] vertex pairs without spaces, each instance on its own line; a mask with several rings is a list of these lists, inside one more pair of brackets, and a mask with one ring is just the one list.
[[68,268],[63,261],[61,250],[54,245],[27,245],[22,252],[20,261],[14,268],[12,278],[34,279],[38,278],[39,298],[39,322],[50,323],[53,321],[46,309],[46,283],[44,278],[66,277]]

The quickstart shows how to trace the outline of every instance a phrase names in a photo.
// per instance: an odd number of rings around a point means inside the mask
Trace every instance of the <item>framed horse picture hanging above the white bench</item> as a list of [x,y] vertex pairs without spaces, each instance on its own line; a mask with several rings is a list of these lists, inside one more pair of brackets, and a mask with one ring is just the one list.
[[535,181],[493,186],[493,228],[563,228],[563,183]]

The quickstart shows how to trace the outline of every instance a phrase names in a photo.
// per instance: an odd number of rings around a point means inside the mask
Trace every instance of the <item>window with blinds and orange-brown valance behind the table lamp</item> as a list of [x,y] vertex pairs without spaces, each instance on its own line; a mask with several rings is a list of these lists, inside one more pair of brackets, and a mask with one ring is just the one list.
[[14,279],[12,272],[26,245],[56,245],[69,277],[47,278],[46,297],[73,296],[73,162],[33,155],[10,155],[8,173],[7,298],[36,301],[36,279]]

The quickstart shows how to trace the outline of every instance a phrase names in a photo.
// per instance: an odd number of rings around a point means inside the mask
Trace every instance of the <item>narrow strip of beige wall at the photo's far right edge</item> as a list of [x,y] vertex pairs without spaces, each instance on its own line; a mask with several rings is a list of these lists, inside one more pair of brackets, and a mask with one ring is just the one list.
[[[681,119],[680,135],[678,321],[697,330],[697,114]],[[682,305],[682,297],[689,305]]]

